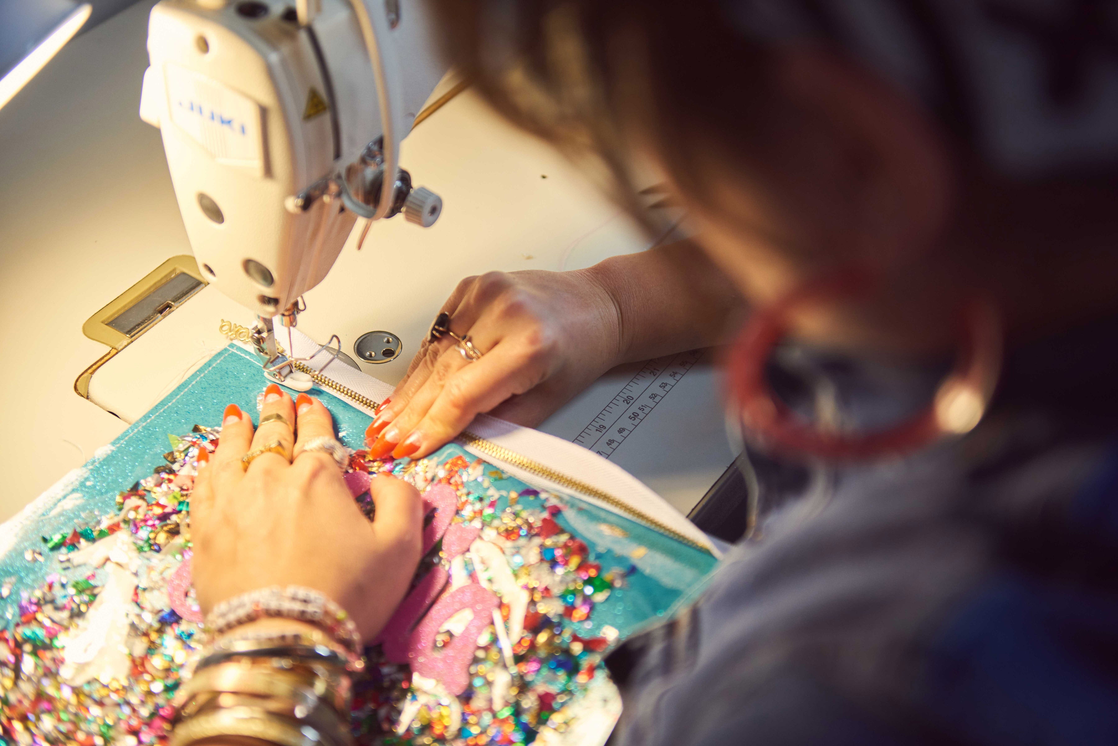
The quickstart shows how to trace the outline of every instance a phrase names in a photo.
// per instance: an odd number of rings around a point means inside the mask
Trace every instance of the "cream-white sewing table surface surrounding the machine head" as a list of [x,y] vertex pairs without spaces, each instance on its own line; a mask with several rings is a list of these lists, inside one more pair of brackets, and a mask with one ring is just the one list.
[[[136,115],[146,67],[141,2],[79,36],[0,110],[0,520],[76,468],[221,344],[220,319],[248,313],[207,287],[94,376],[106,348],[82,323],[164,259],[190,246],[159,132]],[[489,270],[578,268],[647,240],[546,145],[500,121],[468,91],[405,141],[401,164],[444,200],[421,229],[400,218],[348,246],[306,294],[300,329],[342,339],[352,355],[370,330],[399,334],[405,355],[362,369],[396,383],[455,283]],[[352,240],[351,240],[352,243]],[[574,438],[639,368],[605,376],[541,429]],[[686,511],[732,460],[719,385],[692,369],[612,456]],[[108,414],[119,413],[124,419]]]

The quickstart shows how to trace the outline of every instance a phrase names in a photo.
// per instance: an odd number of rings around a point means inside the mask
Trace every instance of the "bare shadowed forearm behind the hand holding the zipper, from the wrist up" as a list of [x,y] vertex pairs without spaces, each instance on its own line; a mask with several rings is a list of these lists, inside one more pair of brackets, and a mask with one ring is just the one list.
[[617,306],[618,363],[723,343],[745,310],[730,281],[686,240],[614,256],[582,272]]

